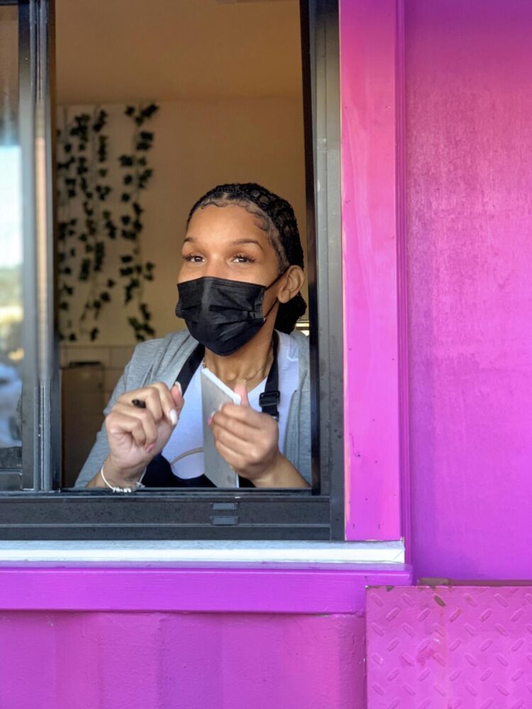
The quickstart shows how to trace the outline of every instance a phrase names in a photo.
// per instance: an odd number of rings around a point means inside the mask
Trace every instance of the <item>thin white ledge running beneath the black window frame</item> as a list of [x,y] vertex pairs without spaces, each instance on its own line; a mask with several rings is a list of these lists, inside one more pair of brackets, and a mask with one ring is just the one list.
[[0,542],[4,564],[404,564],[403,542]]

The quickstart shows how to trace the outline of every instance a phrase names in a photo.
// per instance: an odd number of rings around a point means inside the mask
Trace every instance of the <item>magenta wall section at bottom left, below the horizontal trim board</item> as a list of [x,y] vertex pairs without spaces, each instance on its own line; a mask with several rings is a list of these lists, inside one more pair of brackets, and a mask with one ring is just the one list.
[[1,709],[362,709],[360,615],[0,613]]

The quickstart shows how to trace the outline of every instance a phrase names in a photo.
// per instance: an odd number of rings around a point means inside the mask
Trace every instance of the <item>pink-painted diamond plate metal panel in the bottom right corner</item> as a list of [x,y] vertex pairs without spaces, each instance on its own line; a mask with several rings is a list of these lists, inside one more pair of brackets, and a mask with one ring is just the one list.
[[532,586],[367,591],[367,709],[531,709]]

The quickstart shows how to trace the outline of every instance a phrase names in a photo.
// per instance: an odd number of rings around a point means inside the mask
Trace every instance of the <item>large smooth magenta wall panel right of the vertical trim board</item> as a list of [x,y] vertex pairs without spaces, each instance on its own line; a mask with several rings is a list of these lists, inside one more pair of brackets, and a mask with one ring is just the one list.
[[532,4],[406,0],[417,576],[532,578]]

